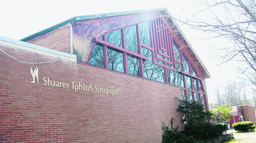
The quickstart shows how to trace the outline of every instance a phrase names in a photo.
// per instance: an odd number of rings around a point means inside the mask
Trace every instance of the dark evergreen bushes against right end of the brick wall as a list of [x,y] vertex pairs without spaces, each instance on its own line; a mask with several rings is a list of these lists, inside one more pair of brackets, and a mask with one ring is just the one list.
[[162,125],[163,143],[199,143],[200,140],[210,139],[225,133],[228,130],[227,124],[210,124],[207,121],[211,118],[212,113],[206,112],[202,104],[195,101],[185,101],[176,98],[180,103],[177,111],[183,113],[185,131],[177,132],[178,127],[173,128],[173,118],[171,129],[169,125]]

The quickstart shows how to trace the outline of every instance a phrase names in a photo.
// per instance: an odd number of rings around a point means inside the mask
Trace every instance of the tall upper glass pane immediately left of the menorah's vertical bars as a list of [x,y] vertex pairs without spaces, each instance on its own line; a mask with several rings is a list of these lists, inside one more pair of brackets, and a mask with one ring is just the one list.
[[148,22],[139,24],[140,42],[151,47]]

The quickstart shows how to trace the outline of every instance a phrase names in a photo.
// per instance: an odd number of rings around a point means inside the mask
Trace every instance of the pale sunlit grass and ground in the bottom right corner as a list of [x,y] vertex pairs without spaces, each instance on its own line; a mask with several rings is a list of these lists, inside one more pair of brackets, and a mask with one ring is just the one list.
[[256,132],[236,132],[228,130],[228,133],[233,132],[234,138],[224,143],[256,143]]

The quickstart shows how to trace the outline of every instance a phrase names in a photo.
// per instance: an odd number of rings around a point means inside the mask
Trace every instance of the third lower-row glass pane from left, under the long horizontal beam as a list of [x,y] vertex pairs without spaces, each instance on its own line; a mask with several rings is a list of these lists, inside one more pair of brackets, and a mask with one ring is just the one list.
[[127,56],[127,69],[128,74],[140,76],[140,62],[139,59]]

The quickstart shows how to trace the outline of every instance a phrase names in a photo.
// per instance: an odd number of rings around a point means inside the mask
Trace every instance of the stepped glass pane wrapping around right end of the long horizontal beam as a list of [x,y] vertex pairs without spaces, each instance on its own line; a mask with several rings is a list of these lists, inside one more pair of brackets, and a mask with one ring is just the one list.
[[165,82],[164,68],[152,63],[152,52],[141,47],[142,55],[147,57],[149,61],[143,61],[144,77],[158,82]]

